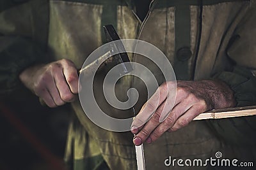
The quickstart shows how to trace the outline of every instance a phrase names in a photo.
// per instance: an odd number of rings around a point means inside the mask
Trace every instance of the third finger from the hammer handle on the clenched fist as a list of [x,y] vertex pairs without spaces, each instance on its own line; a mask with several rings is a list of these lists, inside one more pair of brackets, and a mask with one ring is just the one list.
[[53,78],[52,78],[52,82],[48,83],[47,89],[48,89],[49,93],[51,94],[54,103],[57,106],[61,106],[61,105],[65,104],[65,101],[63,101],[61,99],[60,92],[57,89],[56,83]]

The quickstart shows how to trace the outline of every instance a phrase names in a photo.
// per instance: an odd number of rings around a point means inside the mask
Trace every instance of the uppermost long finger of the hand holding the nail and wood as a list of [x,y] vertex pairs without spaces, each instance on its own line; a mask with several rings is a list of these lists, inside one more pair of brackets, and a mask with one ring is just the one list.
[[140,113],[138,113],[132,122],[131,129],[136,129],[141,125],[144,125],[150,119],[150,117],[152,117],[152,115],[155,113],[160,104],[163,103],[167,96],[168,84],[164,83],[156,90],[153,96],[150,97],[147,103],[145,103],[141,108]]

